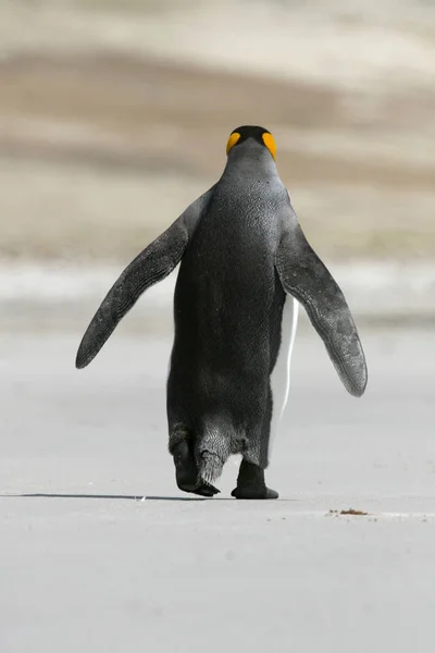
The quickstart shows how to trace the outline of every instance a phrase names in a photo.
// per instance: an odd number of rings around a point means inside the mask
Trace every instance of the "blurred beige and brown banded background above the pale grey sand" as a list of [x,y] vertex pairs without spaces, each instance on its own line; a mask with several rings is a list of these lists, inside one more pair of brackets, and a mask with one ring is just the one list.
[[[353,311],[431,320],[434,79],[432,0],[2,0],[2,323],[85,326],[240,124]],[[125,328],[172,322],[173,283]]]

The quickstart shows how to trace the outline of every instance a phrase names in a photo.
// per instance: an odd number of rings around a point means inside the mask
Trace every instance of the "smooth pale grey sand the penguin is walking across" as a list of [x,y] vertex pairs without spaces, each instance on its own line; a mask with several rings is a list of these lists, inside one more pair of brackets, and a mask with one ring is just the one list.
[[276,502],[178,492],[171,343],[80,336],[1,333],[2,653],[433,650],[433,333],[361,332],[361,399],[297,337]]

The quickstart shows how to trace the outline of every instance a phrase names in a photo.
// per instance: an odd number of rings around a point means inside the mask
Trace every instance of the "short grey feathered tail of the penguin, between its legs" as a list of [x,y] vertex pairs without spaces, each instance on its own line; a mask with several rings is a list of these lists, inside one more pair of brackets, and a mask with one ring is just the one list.
[[229,424],[208,424],[202,438],[198,439],[196,448],[198,476],[203,482],[211,484],[222,475],[229,456],[245,451],[246,439],[235,434]]

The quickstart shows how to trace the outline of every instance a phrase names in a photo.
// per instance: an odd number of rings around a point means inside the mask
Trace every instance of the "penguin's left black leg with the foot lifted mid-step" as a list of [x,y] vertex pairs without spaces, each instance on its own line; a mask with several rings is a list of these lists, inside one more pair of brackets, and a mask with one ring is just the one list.
[[175,479],[179,490],[200,496],[214,496],[219,493],[217,488],[199,478],[195,435],[191,431],[179,424],[171,430],[169,448],[174,458]]

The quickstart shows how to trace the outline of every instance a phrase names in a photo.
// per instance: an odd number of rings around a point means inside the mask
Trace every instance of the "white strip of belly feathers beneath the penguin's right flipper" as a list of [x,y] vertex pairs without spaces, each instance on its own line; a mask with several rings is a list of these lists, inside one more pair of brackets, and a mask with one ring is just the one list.
[[274,440],[288,399],[288,391],[290,389],[290,358],[298,325],[298,313],[299,303],[294,297],[286,295],[283,309],[281,347],[271,374],[273,407],[269,440],[269,459],[272,455]]

